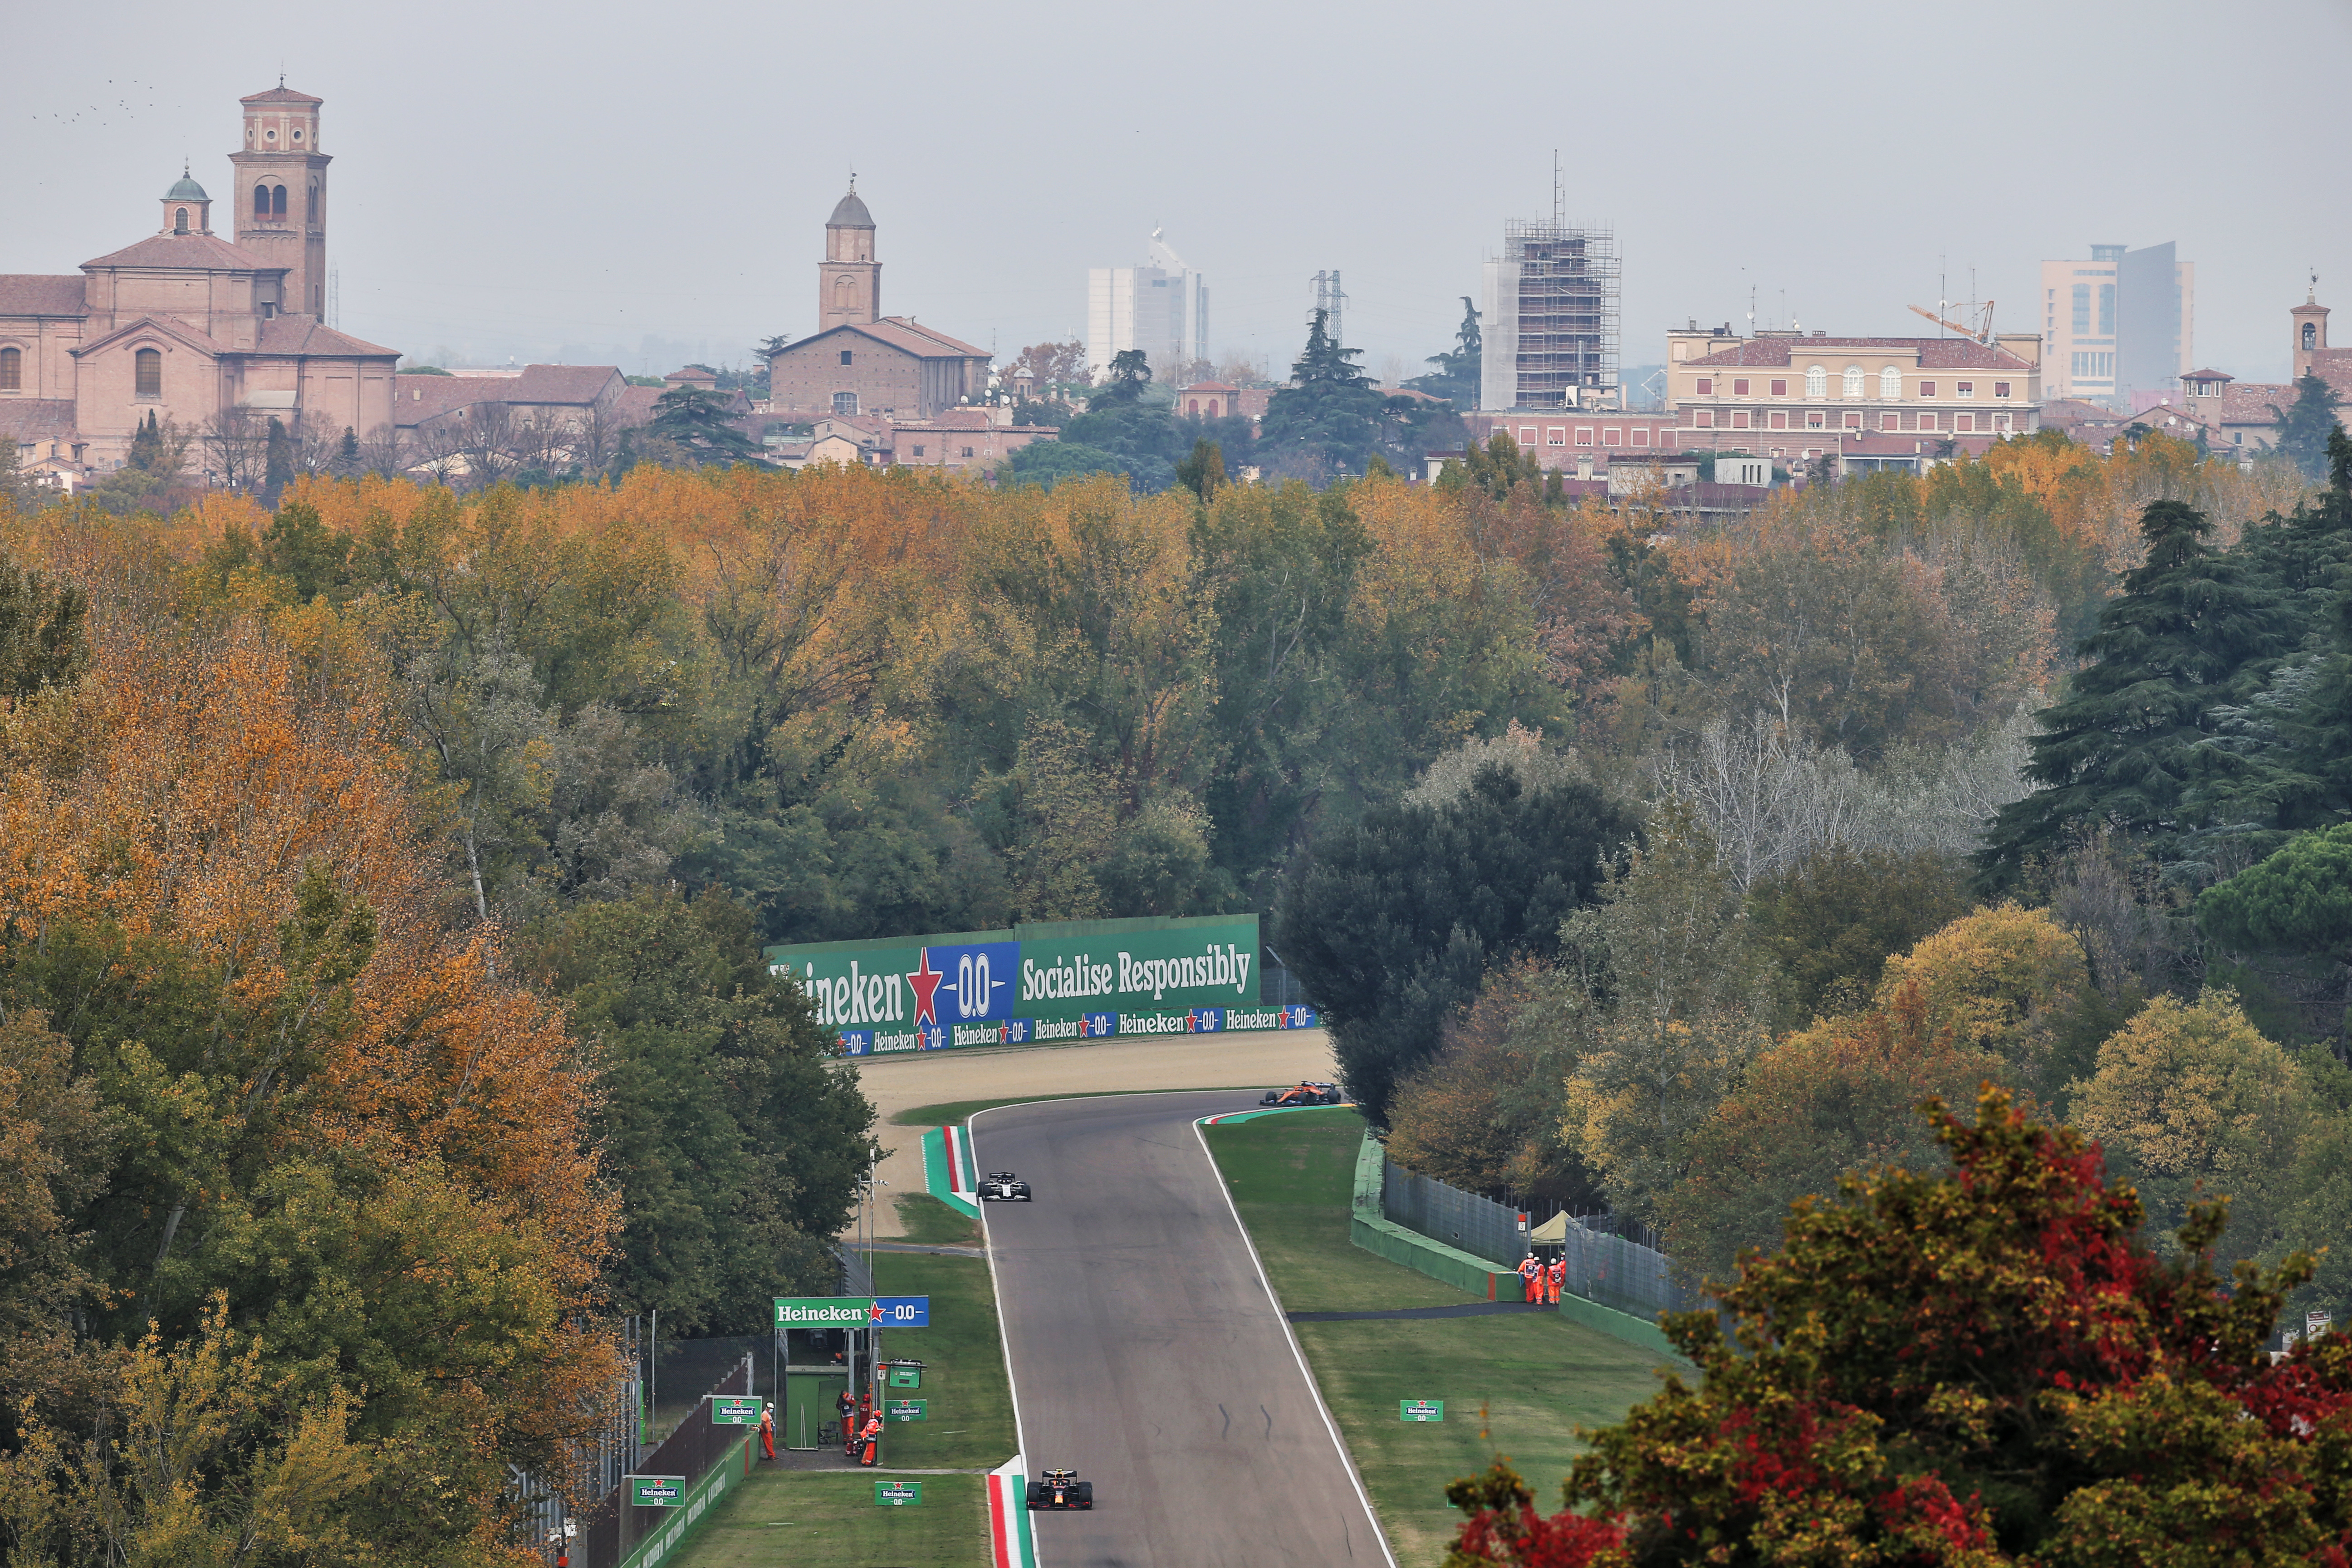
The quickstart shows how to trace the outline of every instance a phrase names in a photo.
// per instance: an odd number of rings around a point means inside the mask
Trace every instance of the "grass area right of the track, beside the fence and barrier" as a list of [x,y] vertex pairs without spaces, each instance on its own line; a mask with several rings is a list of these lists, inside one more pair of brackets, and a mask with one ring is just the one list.
[[[1404,1265],[1348,1241],[1352,1110],[1287,1112],[1211,1126],[1235,1208],[1289,1312],[1378,1312],[1468,1302]],[[1583,1450],[1576,1427],[1609,1425],[1656,1389],[1663,1359],[1552,1312],[1294,1324],[1371,1505],[1406,1568],[1437,1563],[1461,1523],[1446,1483],[1496,1453],[1536,1488],[1545,1512]],[[1444,1399],[1437,1425],[1397,1420],[1399,1399]],[[1484,1432],[1479,1434],[1479,1408]]]

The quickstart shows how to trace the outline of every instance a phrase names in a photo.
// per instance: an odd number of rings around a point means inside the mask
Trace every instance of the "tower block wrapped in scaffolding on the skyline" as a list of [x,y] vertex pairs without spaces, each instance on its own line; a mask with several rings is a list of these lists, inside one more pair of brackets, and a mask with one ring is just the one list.
[[1482,409],[1623,409],[1618,254],[1606,228],[1503,226],[1486,261]]

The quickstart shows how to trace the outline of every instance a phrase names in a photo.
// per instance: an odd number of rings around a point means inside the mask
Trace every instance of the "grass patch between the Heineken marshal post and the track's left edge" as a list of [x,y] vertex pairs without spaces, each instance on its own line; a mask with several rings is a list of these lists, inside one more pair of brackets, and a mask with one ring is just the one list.
[[1014,1458],[1014,1392],[1004,1378],[997,1298],[978,1258],[875,1253],[882,1295],[929,1295],[931,1326],[882,1335],[884,1356],[924,1363],[929,1420],[891,1422],[882,1462],[903,1469],[995,1469]]

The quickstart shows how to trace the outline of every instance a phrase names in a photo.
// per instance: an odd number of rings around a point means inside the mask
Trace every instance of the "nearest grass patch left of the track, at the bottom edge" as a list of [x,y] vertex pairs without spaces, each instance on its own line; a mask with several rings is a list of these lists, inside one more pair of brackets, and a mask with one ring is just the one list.
[[988,1563],[981,1476],[922,1481],[922,1507],[875,1507],[873,1472],[757,1469],[703,1519],[680,1568],[894,1568]]

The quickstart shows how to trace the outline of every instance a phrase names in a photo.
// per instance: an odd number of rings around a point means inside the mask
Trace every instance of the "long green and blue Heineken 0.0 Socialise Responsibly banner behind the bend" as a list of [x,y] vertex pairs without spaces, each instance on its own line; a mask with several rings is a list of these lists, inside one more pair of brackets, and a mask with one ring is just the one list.
[[1258,1004],[1258,917],[1082,919],[769,947],[849,1056],[1112,1034],[1310,1030]]

